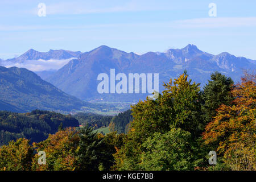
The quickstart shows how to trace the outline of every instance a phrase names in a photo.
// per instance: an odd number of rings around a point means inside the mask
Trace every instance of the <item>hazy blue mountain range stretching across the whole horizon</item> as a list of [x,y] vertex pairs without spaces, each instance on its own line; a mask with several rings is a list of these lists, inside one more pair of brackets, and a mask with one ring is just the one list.
[[[36,72],[44,80],[60,90],[80,100],[103,100],[135,102],[144,100],[148,94],[100,94],[97,92],[97,76],[100,73],[110,75],[110,69],[117,73],[159,73],[159,89],[162,83],[178,77],[186,69],[192,81],[207,83],[210,74],[218,71],[232,77],[237,82],[243,69],[256,69],[256,61],[245,57],[236,57],[228,52],[218,55],[201,51],[195,45],[188,44],[181,49],[168,49],[166,52],[147,52],[143,55],[121,51],[108,46],[100,46],[89,52],[50,50],[38,52],[28,50],[15,59],[2,60],[26,63],[27,60],[71,59],[60,69],[48,69]],[[117,82],[117,81],[116,81]]]

